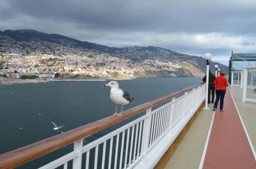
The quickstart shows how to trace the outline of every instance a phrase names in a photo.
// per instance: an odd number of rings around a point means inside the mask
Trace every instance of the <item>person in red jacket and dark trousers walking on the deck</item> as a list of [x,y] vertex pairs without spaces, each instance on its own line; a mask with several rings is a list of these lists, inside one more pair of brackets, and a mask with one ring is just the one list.
[[213,84],[216,89],[216,99],[213,107],[213,111],[217,109],[218,102],[220,100],[220,111],[223,112],[224,97],[226,93],[226,87],[228,87],[227,78],[224,77],[226,74],[225,70],[220,71],[220,76],[216,77]]

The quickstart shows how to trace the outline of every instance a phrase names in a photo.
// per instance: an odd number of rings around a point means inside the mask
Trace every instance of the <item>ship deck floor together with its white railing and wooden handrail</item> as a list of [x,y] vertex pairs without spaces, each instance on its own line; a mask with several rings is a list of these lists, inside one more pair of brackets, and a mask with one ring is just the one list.
[[[209,109],[202,109],[205,84],[187,87],[125,110],[120,117],[109,116],[0,154],[0,168],[23,165],[70,143],[74,143],[74,151],[40,168],[67,168],[71,162],[73,168],[98,168],[100,165],[102,168],[106,165],[108,168],[116,168],[116,165],[119,168],[256,168],[256,105],[243,103],[241,96],[239,87],[230,87],[225,96],[224,112],[220,109],[213,112],[212,104]],[[167,103],[152,110],[164,101]],[[84,138],[141,112],[146,114],[83,145]],[[120,133],[122,142],[119,142]],[[118,146],[121,146],[120,149],[115,149]],[[95,153],[91,156],[90,151]],[[121,154],[119,159],[118,151]],[[115,161],[112,163],[114,154]],[[86,159],[83,159],[84,155]],[[106,158],[108,163],[105,163]]]

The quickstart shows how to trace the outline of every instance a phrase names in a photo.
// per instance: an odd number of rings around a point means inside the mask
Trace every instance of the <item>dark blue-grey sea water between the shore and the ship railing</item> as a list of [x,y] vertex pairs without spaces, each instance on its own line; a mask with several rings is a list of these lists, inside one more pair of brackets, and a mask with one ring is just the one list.
[[[134,98],[124,110],[195,84],[202,78],[137,78],[118,81]],[[52,122],[65,125],[63,132],[112,115],[108,82],[49,82],[0,87],[0,154],[58,135]],[[108,129],[105,133],[108,133]],[[102,135],[93,135],[91,140]],[[70,151],[72,147],[67,147]],[[57,154],[57,155],[56,155]],[[20,168],[35,168],[58,156],[37,159]]]

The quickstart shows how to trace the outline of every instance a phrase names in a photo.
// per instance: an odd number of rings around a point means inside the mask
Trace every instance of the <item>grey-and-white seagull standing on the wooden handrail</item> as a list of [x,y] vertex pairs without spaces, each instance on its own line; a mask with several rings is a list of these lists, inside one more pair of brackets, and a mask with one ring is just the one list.
[[116,111],[117,111],[117,105],[122,105],[121,112],[120,113],[115,112],[115,114],[113,115],[122,115],[123,106],[131,103],[134,100],[134,98],[131,98],[129,92],[123,89],[119,89],[119,85],[116,81],[111,81],[108,84],[104,85],[104,87],[106,86],[111,87],[110,99],[114,103],[116,103]]

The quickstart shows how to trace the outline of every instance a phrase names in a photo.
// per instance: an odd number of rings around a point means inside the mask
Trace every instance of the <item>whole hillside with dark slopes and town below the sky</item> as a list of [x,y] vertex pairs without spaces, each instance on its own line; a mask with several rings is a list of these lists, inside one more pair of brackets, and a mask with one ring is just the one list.
[[[79,70],[83,72],[80,74],[89,73],[91,76],[90,70],[102,70],[106,77],[127,72],[137,77],[202,77],[205,72],[204,58],[180,54],[166,48],[108,47],[33,30],[0,31],[0,55],[12,67],[47,67],[62,73]],[[33,58],[33,61],[27,63],[26,58]],[[212,70],[214,64],[228,70],[223,64],[211,62]],[[102,73],[96,74],[97,77],[103,76]]]

